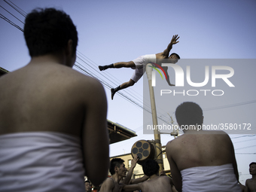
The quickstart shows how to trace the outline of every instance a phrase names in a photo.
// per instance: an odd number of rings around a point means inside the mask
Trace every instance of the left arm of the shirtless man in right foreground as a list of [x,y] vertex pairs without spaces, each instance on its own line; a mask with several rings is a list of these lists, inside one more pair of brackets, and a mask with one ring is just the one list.
[[167,159],[169,161],[169,165],[171,168],[171,173],[172,173],[172,181],[173,184],[178,191],[182,191],[182,177],[181,177],[181,172],[178,170],[178,166],[175,163],[175,160],[172,159],[172,153],[175,153],[175,149],[172,148],[172,141],[168,142],[166,145],[166,154],[167,154]]

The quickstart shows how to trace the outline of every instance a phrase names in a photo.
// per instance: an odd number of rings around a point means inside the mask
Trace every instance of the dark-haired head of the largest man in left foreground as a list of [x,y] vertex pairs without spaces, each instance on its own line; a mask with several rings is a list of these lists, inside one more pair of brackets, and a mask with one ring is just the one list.
[[72,40],[72,56],[78,45],[78,32],[69,15],[54,8],[35,9],[27,15],[24,37],[30,56],[61,53]]

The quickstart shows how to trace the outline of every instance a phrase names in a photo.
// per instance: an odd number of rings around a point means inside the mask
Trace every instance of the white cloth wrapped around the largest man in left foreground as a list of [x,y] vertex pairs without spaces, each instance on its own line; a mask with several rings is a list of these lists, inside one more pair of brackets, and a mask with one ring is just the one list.
[[83,191],[80,139],[63,133],[0,136],[0,191]]

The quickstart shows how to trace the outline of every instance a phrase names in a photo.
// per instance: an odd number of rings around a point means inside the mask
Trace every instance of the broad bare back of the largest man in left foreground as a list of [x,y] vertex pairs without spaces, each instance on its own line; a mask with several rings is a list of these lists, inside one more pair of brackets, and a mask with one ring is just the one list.
[[8,127],[1,135],[55,131],[81,137],[85,106],[95,101],[106,108],[99,82],[58,63],[29,64],[3,76],[0,87],[1,127]]

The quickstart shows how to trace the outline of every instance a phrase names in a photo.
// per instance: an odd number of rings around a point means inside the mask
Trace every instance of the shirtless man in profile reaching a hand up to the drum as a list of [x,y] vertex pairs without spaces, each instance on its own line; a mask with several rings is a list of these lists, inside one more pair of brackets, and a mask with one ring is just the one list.
[[100,191],[117,192],[122,190],[123,184],[136,184],[147,180],[147,176],[137,179],[131,179],[133,175],[133,169],[135,168],[138,160],[139,158],[137,156],[133,158],[130,170],[126,175],[127,169],[123,163],[124,161],[120,158],[112,159],[109,167],[111,178],[105,179],[105,181],[102,183]]

